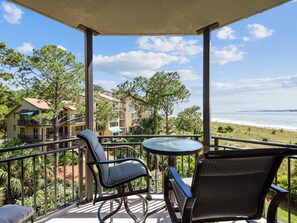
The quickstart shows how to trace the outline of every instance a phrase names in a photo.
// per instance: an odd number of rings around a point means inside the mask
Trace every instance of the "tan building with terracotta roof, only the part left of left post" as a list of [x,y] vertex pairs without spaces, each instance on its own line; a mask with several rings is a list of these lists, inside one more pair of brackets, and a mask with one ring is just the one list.
[[[46,112],[49,108],[44,100],[24,98],[20,105],[7,115],[7,138],[26,142],[53,140],[52,125],[41,118],[36,119],[38,114]],[[76,137],[78,132],[85,129],[85,120],[81,118],[75,106],[65,107],[59,118],[63,118],[65,122],[59,129],[60,139]]]

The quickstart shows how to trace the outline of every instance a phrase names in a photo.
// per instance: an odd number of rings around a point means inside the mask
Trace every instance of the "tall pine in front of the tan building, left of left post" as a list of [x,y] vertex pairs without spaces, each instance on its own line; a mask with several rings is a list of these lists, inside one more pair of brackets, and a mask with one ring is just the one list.
[[72,53],[48,45],[34,49],[32,56],[23,58],[16,78],[19,85],[32,89],[48,103],[50,109],[40,117],[52,123],[54,140],[57,140],[60,112],[69,104],[80,108],[84,65],[77,63]]

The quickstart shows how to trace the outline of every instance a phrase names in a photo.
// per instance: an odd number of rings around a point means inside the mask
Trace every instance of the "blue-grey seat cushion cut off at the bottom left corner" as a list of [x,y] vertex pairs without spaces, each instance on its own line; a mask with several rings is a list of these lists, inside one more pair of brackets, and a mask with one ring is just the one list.
[[0,223],[18,223],[34,215],[33,208],[19,205],[4,205],[0,207]]

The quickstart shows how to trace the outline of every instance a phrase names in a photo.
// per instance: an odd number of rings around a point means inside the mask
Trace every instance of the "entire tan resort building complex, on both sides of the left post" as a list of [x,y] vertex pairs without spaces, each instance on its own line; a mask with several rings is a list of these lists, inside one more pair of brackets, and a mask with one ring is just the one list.
[[[107,125],[94,125],[98,135],[119,135],[131,132],[133,126],[138,125],[141,118],[148,117],[148,112],[139,113],[130,100],[120,101],[111,92],[100,94],[102,100],[111,103],[116,118]],[[41,142],[53,140],[53,128],[48,122],[36,119],[38,114],[49,109],[46,101],[37,98],[24,98],[19,106],[7,115],[7,138],[21,139],[26,142]],[[61,112],[59,119],[64,124],[59,129],[60,139],[74,138],[84,130],[85,118],[75,106],[67,105]]]

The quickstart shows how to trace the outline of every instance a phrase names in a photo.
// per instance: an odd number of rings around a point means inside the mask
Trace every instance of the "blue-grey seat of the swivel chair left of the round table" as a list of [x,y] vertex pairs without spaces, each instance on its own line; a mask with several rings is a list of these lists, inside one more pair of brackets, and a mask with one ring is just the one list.
[[146,169],[140,162],[126,161],[109,168],[108,184],[118,185],[146,175]]

